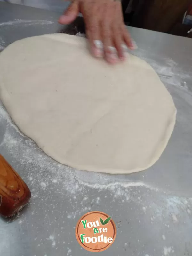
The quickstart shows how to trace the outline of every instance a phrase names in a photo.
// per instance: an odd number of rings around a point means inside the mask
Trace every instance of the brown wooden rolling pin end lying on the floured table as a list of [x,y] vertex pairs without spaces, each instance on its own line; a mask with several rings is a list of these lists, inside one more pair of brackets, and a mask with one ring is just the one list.
[[0,154],[0,214],[11,217],[28,203],[30,197],[28,186]]

